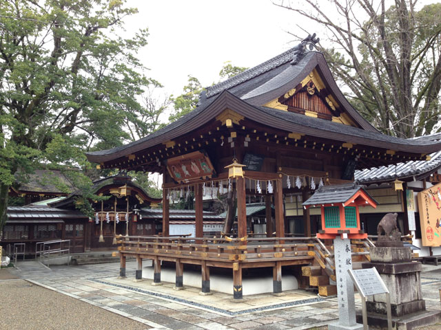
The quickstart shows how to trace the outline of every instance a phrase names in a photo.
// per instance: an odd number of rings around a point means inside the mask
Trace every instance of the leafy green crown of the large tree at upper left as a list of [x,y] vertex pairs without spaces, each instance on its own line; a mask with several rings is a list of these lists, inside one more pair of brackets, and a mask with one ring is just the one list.
[[[158,128],[158,113],[139,102],[149,85],[160,87],[136,57],[148,31],[119,36],[136,12],[123,0],[1,1],[0,228],[17,170],[60,164],[96,177],[84,151],[134,140],[126,126],[136,127],[136,138]],[[72,180],[87,211],[96,197],[80,173]]]

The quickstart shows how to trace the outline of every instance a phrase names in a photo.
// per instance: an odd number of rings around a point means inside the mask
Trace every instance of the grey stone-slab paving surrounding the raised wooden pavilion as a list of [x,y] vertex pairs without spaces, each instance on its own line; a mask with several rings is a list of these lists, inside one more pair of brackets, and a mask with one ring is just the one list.
[[[23,268],[23,267],[22,267]],[[127,278],[116,279],[119,263],[58,266],[52,270],[10,273],[30,283],[112,311],[153,329],[309,329],[338,318],[336,298],[322,299],[302,290],[280,297],[260,295],[232,303],[221,294],[198,296],[197,289],[174,291],[172,284],[152,287],[150,281],[134,283],[135,263],[127,262]],[[423,297],[429,309],[441,309],[441,266],[424,267]],[[433,271],[433,272],[429,272]],[[439,272],[438,272],[439,271]],[[217,303],[216,303],[217,302]],[[360,299],[356,296],[360,308]],[[438,326],[441,329],[441,326]],[[102,328],[105,329],[105,328]],[[436,329],[436,328],[435,328]]]

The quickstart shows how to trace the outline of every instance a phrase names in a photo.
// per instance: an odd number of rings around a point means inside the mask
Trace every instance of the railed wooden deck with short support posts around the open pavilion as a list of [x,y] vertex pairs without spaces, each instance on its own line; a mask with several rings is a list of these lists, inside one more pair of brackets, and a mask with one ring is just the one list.
[[[335,267],[331,253],[315,237],[216,239],[158,236],[119,236],[120,276],[125,276],[125,259],[137,261],[136,280],[142,278],[143,259],[154,264],[154,283],[161,283],[161,261],[176,264],[176,289],[183,287],[183,265],[201,265],[202,294],[209,294],[210,267],[232,270],[234,298],[242,298],[242,270],[272,267],[274,293],[282,292],[282,267],[318,265],[331,278]],[[301,280],[301,279],[300,279]],[[300,285],[309,285],[299,281]],[[322,285],[322,282],[318,283]],[[329,281],[325,284],[329,285]]]

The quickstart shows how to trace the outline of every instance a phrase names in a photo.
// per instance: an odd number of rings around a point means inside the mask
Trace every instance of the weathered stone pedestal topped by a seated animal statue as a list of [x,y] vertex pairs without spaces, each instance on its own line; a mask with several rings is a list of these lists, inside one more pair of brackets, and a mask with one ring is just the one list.
[[[412,261],[411,249],[404,247],[398,231],[396,213],[386,214],[378,224],[378,241],[370,248],[370,263],[376,267],[390,292],[392,323],[396,329],[413,329],[439,320],[440,311],[427,311],[422,299],[421,263]],[[369,296],[366,302],[367,320],[371,329],[387,329],[385,294]],[[362,320],[362,315],[357,315]]]

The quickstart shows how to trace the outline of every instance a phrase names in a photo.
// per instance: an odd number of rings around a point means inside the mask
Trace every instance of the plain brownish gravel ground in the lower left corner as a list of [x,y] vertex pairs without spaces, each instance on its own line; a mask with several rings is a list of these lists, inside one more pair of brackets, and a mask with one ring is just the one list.
[[0,281],[0,301],[0,329],[150,329],[140,322],[23,280]]

